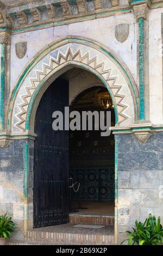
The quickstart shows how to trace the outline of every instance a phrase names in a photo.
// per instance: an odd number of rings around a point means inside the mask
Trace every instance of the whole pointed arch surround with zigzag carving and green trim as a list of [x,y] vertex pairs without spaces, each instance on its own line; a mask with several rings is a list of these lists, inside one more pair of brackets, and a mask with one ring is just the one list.
[[[45,54],[39,62],[32,65],[32,69],[21,81],[21,86],[15,93],[16,96],[9,108],[12,109],[9,114],[12,133],[30,130],[27,119],[30,119],[30,108],[34,107],[36,95],[40,95],[41,99],[41,95],[50,84],[48,81],[54,81],[64,70],[69,69],[70,65],[86,69],[102,80],[114,102],[118,126],[134,123],[136,106],[131,85],[115,58],[109,54],[106,56],[106,53],[98,50],[96,45],[92,47],[86,45],[84,41],[79,43],[78,40],[68,40],[56,47],[54,44],[52,48],[53,50]],[[37,99],[36,105],[40,99]]]

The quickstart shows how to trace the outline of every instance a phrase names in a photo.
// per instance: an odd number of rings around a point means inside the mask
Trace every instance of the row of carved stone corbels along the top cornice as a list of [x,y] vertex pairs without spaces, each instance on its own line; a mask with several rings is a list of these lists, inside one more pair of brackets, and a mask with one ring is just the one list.
[[[59,0],[58,2],[44,0],[43,3],[42,1],[31,1],[32,4],[30,2],[28,4],[15,4],[7,8],[6,18],[9,17],[12,27],[23,27],[31,26],[35,22],[51,22],[51,19],[59,20],[63,17],[84,16],[89,13],[96,14],[102,10],[105,12],[110,8],[111,11],[117,10],[118,6],[120,9],[123,8],[123,5],[119,5],[118,0],[111,0],[109,4],[102,0],[92,0],[91,2],[86,0]],[[124,8],[127,8],[126,4],[124,4]]]

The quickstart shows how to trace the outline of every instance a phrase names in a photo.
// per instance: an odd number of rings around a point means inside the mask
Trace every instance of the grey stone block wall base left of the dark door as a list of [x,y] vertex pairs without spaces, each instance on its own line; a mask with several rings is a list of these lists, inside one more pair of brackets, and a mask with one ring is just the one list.
[[[33,217],[33,147],[29,142],[28,218]],[[0,148],[0,215],[7,213],[16,223],[12,239],[23,239],[24,231],[24,144],[15,139],[7,148]],[[31,221],[32,222],[32,221]]]

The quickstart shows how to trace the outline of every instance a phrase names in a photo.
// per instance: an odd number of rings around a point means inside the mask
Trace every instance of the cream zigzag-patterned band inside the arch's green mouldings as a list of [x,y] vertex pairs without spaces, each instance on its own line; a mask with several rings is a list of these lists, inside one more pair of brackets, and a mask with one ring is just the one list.
[[18,90],[12,112],[12,131],[26,130],[29,102],[44,77],[59,65],[73,61],[79,67],[85,64],[98,72],[107,83],[117,106],[118,124],[134,121],[134,105],[127,81],[118,66],[96,48],[77,43],[67,43],[42,58],[24,79]]

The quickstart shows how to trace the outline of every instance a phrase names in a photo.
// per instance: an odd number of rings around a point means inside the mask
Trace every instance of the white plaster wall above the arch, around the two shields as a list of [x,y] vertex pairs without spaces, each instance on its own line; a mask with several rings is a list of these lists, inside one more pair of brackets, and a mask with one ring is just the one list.
[[[115,26],[121,23],[128,23],[130,25],[128,39],[123,43],[118,42],[115,38]],[[87,37],[108,46],[128,66],[128,69],[136,81],[137,63],[135,34],[136,28],[133,14],[122,14],[12,35],[11,90],[14,88],[16,80],[23,68],[36,53],[54,40],[67,35]],[[18,59],[15,53],[15,44],[20,41],[27,41],[27,54],[23,59]]]

